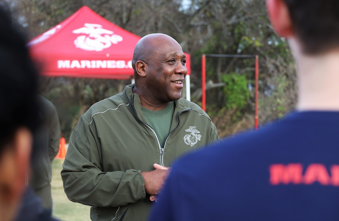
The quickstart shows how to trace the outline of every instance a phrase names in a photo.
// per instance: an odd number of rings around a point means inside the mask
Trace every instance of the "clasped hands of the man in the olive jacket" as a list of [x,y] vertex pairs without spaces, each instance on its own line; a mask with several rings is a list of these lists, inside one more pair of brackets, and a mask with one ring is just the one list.
[[168,176],[168,167],[164,167],[157,163],[153,164],[155,170],[153,171],[146,171],[141,172],[141,175],[144,177],[145,180],[145,191],[152,196],[149,197],[151,201],[156,199],[158,192],[160,191],[162,185],[164,184],[167,176]]

